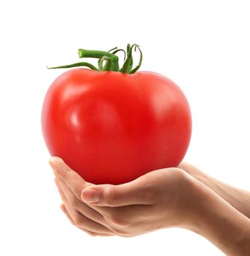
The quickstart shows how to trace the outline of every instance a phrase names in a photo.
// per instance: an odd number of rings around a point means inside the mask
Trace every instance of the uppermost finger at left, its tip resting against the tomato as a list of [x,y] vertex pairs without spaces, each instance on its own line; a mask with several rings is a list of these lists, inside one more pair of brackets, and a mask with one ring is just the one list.
[[63,159],[60,159],[59,157],[52,157],[49,162],[54,170],[55,176],[60,177],[71,189],[74,195],[81,200],[82,189],[85,189],[85,187],[92,184],[85,181],[74,170],[71,170],[71,168],[63,162]]

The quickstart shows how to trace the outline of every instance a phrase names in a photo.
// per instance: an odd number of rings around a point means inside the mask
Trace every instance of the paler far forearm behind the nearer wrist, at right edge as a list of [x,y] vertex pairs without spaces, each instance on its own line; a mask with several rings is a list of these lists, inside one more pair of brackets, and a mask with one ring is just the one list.
[[231,206],[250,219],[250,192],[230,186],[208,176],[206,173],[203,173],[197,167],[187,162],[181,162],[179,168],[185,170],[198,181],[205,184],[206,187],[212,189],[219,197],[222,197],[227,203],[230,203]]

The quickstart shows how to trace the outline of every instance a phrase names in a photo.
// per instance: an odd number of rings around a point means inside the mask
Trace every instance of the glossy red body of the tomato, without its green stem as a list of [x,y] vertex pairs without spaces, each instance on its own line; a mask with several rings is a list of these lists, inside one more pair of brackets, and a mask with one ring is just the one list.
[[50,154],[93,184],[122,184],[178,166],[191,130],[183,92],[154,72],[71,69],[52,83],[42,107]]

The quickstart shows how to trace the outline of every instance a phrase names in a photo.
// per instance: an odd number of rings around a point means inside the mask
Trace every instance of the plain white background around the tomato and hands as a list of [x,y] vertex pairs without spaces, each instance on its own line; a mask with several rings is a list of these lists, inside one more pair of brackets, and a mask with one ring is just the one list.
[[249,189],[249,1],[1,1],[0,255],[223,255],[187,230],[93,238],[69,224],[47,164],[44,94],[77,49],[138,43],[141,70],[175,81],[192,108],[186,161]]

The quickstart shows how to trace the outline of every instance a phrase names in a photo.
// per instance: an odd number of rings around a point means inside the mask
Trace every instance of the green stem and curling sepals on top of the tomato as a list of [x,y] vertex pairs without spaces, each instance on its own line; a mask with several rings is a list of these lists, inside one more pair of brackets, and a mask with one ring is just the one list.
[[[133,49],[136,52],[136,49],[140,52],[140,60],[136,67],[133,68]],[[122,67],[119,66],[119,57],[116,53],[122,51],[124,53],[124,63]],[[133,74],[135,73],[140,67],[142,62],[142,52],[139,48],[139,45],[133,44],[127,45],[127,50],[112,48],[108,51],[103,50],[85,50],[79,49],[78,50],[79,58],[93,58],[98,59],[98,68],[95,67],[93,64],[88,62],[77,62],[74,64],[58,66],[58,67],[47,67],[48,69],[62,69],[62,68],[71,68],[71,67],[89,67],[95,71],[115,71],[115,72],[122,72],[126,74]],[[105,64],[103,62],[105,61]]]

